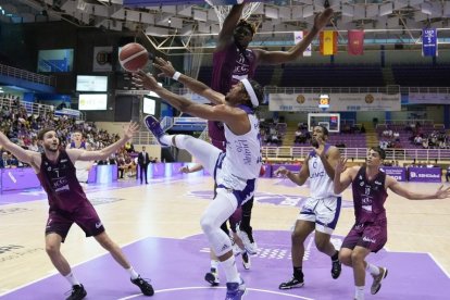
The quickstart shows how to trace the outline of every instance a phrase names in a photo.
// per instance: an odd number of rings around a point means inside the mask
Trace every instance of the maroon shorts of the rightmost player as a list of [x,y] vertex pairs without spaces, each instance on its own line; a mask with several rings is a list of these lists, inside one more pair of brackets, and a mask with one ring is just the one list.
[[378,252],[387,241],[386,220],[377,223],[355,224],[342,241],[341,248],[364,247],[371,252]]

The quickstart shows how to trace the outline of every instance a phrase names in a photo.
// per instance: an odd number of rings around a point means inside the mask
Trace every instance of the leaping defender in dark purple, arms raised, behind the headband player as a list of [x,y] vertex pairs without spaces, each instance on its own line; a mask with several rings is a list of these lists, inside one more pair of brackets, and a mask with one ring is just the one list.
[[[225,17],[218,40],[213,53],[213,72],[211,88],[226,95],[240,79],[252,79],[259,64],[283,64],[293,61],[303,54],[318,32],[329,22],[333,10],[326,9],[317,14],[314,25],[299,43],[288,51],[266,51],[263,49],[248,49],[255,28],[245,20],[240,20],[245,3],[233,5]],[[224,126],[220,122],[209,121],[208,130],[212,143],[225,150]],[[242,205],[242,220],[238,234],[246,246],[247,252],[257,254],[252,227],[250,225],[253,198]]]

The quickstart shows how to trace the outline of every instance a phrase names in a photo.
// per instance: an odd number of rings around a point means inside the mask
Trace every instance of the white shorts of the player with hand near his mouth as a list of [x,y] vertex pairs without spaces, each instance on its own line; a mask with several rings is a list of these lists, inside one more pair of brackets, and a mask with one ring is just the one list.
[[297,220],[315,223],[315,229],[324,234],[333,234],[339,220],[341,197],[308,198]]

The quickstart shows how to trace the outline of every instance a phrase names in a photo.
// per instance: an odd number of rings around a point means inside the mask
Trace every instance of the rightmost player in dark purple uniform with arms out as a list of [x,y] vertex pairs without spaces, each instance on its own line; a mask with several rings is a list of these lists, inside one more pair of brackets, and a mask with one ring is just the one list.
[[404,188],[396,178],[379,170],[385,159],[385,150],[373,147],[368,150],[363,166],[346,170],[347,159],[340,159],[335,170],[335,192],[342,192],[350,184],[353,192],[355,222],[343,239],[339,260],[353,268],[355,300],[364,300],[365,272],[374,279],[371,286],[372,295],[379,291],[382,280],[388,274],[386,267],[373,265],[365,260],[371,252],[378,252],[387,241],[387,189],[410,200],[450,197],[450,188],[442,189],[442,186],[435,193],[413,192]]

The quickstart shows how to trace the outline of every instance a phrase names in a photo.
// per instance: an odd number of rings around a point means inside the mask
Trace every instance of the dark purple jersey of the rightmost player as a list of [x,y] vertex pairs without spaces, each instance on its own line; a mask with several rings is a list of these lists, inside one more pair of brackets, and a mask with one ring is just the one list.
[[375,178],[368,180],[365,168],[365,165],[361,166],[352,183],[357,224],[377,223],[386,220],[384,208],[388,196],[385,188],[386,174],[379,171]]

